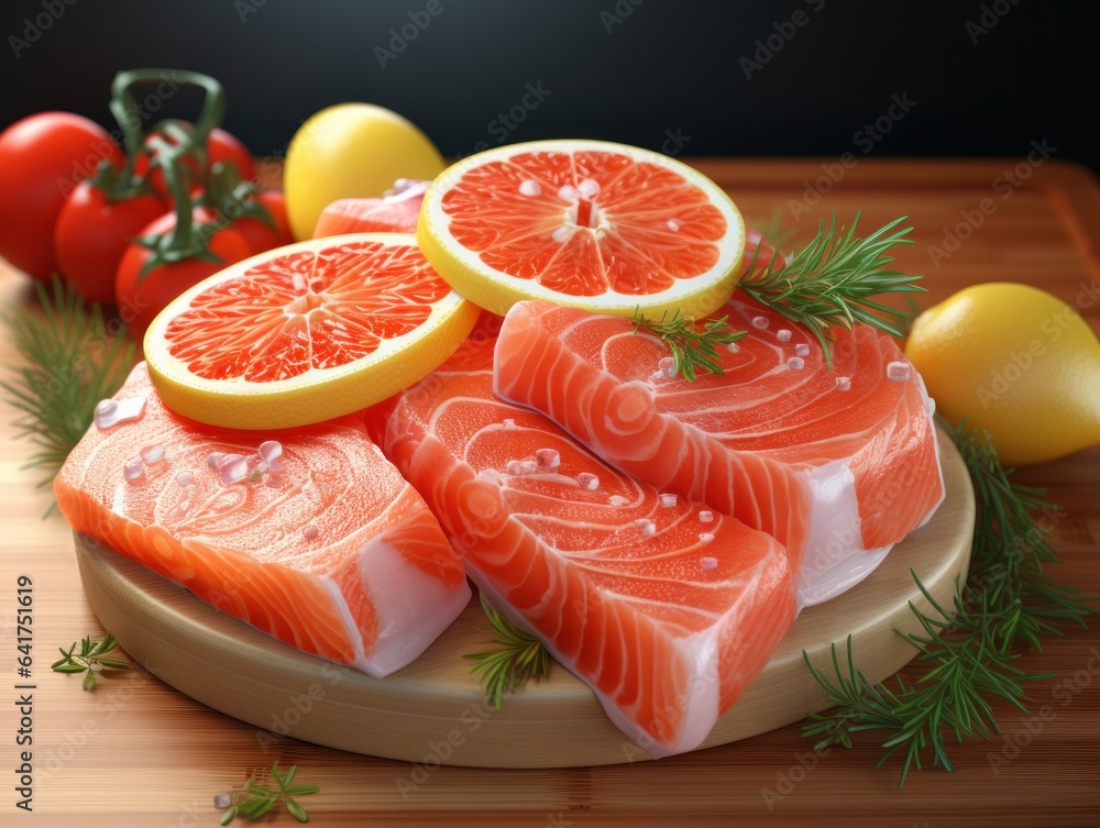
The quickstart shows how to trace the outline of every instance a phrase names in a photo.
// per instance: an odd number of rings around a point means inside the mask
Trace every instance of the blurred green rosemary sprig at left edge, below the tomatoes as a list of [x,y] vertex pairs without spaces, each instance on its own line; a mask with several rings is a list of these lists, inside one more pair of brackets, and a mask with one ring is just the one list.
[[56,276],[52,292],[42,283],[35,287],[41,313],[8,308],[2,314],[24,364],[0,389],[22,412],[16,433],[38,450],[25,467],[45,472],[43,488],[91,426],[96,404],[122,385],[134,344],[121,325],[111,335],[99,306],[86,309]]

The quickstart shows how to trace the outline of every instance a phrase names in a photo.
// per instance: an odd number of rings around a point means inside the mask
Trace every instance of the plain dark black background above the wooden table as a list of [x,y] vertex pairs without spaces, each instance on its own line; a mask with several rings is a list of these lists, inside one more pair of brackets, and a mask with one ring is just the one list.
[[[0,126],[43,109],[107,124],[118,69],[169,66],[226,85],[224,125],[256,155],[282,154],[316,110],[364,100],[447,155],[590,136],[684,155],[1019,157],[1045,139],[1100,169],[1094,2],[435,0],[431,16],[430,0],[68,1],[3,1]],[[381,66],[375,47],[410,12],[430,22]],[[24,19],[43,14],[32,43]],[[780,48],[758,52],[769,36]],[[29,44],[18,57],[12,37]],[[750,78],[741,58],[759,63]],[[494,120],[528,84],[544,100],[514,129]],[[890,121],[894,95],[914,103]],[[157,115],[194,107],[178,95]],[[667,143],[678,131],[682,147]]]

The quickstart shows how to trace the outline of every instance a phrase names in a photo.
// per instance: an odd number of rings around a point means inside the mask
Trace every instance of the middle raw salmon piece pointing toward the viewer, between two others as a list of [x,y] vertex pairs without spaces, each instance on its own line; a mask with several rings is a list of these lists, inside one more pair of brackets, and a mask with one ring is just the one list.
[[493,347],[469,340],[369,411],[372,434],[497,609],[652,755],[691,750],[794,621],[783,548],[497,398]]

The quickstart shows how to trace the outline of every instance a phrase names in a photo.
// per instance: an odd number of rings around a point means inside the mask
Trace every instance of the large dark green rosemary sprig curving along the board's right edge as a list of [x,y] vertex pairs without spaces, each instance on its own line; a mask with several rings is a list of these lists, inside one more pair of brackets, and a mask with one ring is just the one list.
[[833,647],[834,680],[803,658],[817,683],[838,707],[824,715],[811,715],[803,736],[818,738],[815,749],[842,744],[851,747],[850,735],[862,730],[884,733],[886,750],[876,768],[894,753],[902,754],[899,787],[912,765],[920,769],[921,751],[931,748],[934,766],[954,771],[947,755],[945,733],[956,741],[990,739],[1000,732],[991,699],[1007,699],[1027,713],[1030,699],[1020,685],[1053,674],[1026,674],[1013,662],[1013,648],[1031,645],[1041,650],[1040,636],[1062,634],[1053,622],[1072,620],[1087,626],[1096,615],[1096,598],[1054,583],[1043,571],[1044,563],[1058,559],[1050,547],[1049,527],[1036,512],[1057,514],[1044,503],[1043,492],[1013,483],[997,456],[988,433],[969,433],[965,421],[949,428],[952,440],[966,461],[978,498],[979,517],[975,529],[972,564],[966,585],[956,584],[954,612],[941,607],[913,578],[938,617],[927,616],[912,603],[924,634],[901,634],[913,644],[916,664],[924,673],[906,684],[895,676],[898,689],[884,683],[871,685],[856,667],[848,637],[848,670],[842,671]]

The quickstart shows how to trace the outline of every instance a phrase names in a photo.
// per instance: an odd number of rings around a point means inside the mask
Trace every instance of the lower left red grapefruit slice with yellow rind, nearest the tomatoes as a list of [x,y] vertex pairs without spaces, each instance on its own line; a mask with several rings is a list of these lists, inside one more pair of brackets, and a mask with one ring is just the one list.
[[477,308],[402,233],[315,239],[227,267],[145,334],[165,405],[237,429],[293,428],[378,402],[427,376]]

